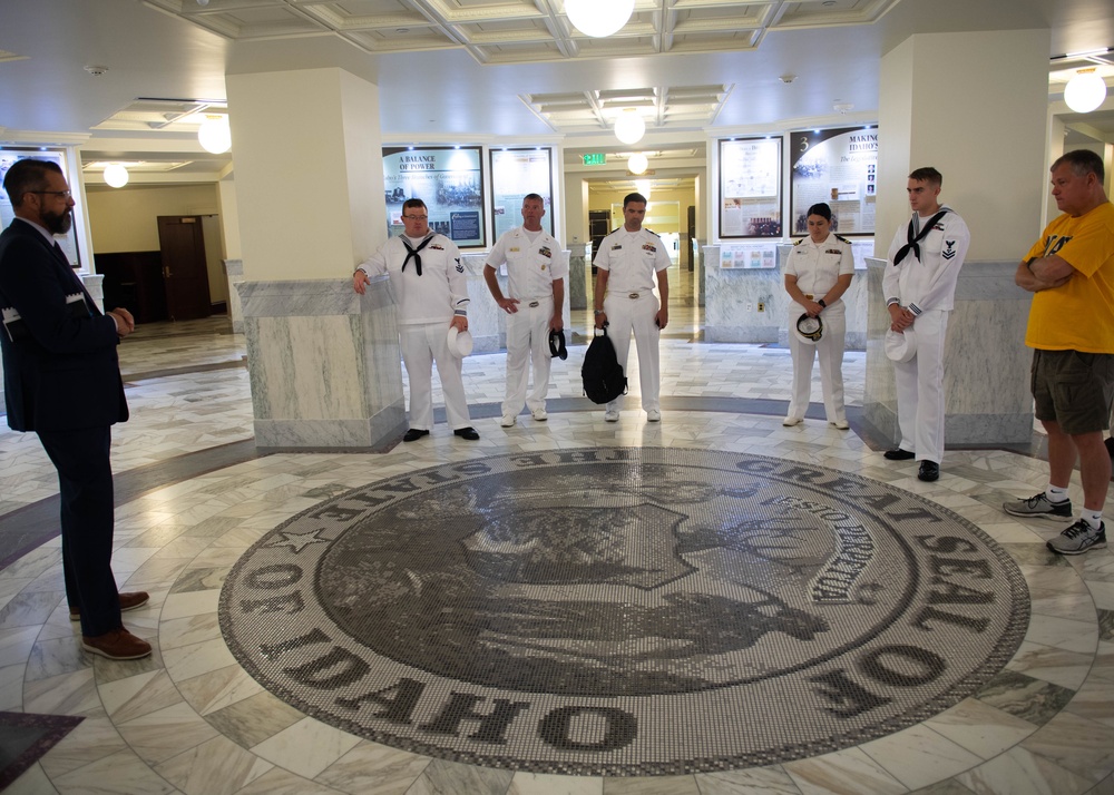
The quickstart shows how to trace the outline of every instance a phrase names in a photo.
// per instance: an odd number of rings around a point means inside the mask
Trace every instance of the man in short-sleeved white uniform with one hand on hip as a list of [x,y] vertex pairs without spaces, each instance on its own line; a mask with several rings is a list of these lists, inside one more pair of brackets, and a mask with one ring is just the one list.
[[[483,279],[491,296],[507,313],[507,392],[502,401],[504,428],[515,424],[525,405],[535,420],[548,418],[546,393],[549,391],[549,332],[561,331],[565,322],[565,276],[568,266],[560,244],[541,228],[545,200],[538,194],[522,199],[522,225],[504,233],[491,248],[483,266]],[[507,295],[497,278],[500,265],[507,266]],[[534,389],[526,392],[532,362]]]

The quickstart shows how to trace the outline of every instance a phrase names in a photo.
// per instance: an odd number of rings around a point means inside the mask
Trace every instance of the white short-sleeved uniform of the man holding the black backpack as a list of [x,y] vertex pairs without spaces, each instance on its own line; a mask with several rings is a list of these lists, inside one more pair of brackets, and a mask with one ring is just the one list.
[[[627,370],[631,332],[638,344],[638,385],[644,411],[661,411],[662,376],[658,341],[662,330],[655,322],[661,303],[654,295],[654,276],[670,267],[670,255],[662,238],[649,229],[627,232],[619,227],[599,243],[593,265],[607,271],[607,336],[615,345],[615,356]],[[618,411],[618,400],[606,410]]]

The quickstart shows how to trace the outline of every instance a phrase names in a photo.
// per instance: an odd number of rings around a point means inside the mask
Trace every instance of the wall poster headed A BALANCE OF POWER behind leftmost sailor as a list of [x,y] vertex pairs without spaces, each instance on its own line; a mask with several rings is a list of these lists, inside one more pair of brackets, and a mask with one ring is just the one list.
[[485,245],[480,147],[384,147],[383,183],[391,235],[402,233],[402,203],[420,198],[429,228],[461,248]]

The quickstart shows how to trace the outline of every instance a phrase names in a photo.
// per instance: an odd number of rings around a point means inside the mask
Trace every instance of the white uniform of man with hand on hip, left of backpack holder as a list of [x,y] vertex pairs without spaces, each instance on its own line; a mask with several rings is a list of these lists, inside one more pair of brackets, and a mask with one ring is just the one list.
[[[502,415],[517,416],[525,403],[531,412],[545,410],[549,391],[549,322],[554,312],[554,282],[565,278],[568,266],[560,244],[545,232],[516,227],[504,233],[491,248],[487,264],[496,271],[507,265],[507,297],[518,298],[517,312],[507,315],[507,392]],[[532,361],[534,389],[527,396]]]

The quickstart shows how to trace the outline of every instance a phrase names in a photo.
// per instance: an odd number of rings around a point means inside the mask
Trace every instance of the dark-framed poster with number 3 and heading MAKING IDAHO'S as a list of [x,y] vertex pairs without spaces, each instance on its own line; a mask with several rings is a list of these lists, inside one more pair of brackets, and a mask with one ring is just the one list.
[[832,209],[832,230],[840,235],[874,234],[874,177],[878,128],[847,127],[790,132],[790,236],[809,232],[809,207]]

